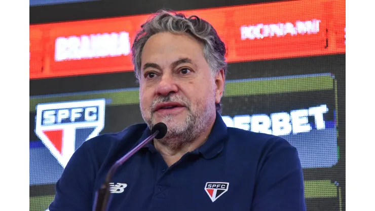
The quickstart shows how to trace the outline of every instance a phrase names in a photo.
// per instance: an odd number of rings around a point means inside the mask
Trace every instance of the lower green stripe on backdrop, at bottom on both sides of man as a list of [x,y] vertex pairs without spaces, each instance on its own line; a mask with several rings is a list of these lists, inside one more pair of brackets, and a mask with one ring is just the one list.
[[[305,198],[334,198],[337,197],[337,187],[329,180],[305,181]],[[52,202],[54,196],[30,197],[31,211],[44,211]]]

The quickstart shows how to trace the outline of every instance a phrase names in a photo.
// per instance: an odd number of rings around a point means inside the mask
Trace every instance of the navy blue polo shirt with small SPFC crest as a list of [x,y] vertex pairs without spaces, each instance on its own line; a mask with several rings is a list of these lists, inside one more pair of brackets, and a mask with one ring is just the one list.
[[[92,210],[110,166],[147,136],[146,124],[85,142],[56,184],[50,211]],[[150,143],[117,169],[109,210],[306,210],[297,151],[285,139],[227,127],[168,167]]]

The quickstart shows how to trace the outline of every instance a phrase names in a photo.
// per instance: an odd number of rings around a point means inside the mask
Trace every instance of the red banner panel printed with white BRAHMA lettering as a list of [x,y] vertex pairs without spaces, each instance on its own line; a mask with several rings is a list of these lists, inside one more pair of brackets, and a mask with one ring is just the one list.
[[82,75],[131,71],[131,44],[148,16],[58,24],[50,30],[50,72]]

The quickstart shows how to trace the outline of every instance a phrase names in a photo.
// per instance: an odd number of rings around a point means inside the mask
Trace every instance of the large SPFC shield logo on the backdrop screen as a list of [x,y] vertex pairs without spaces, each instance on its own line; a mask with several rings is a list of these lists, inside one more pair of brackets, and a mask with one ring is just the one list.
[[74,151],[104,128],[105,99],[36,106],[35,133],[65,168]]

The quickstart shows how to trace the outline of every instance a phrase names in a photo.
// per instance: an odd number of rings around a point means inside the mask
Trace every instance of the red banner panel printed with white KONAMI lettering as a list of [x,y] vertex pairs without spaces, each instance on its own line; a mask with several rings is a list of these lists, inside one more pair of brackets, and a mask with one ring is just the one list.
[[231,61],[321,54],[326,46],[324,4],[298,1],[242,7],[232,18]]

